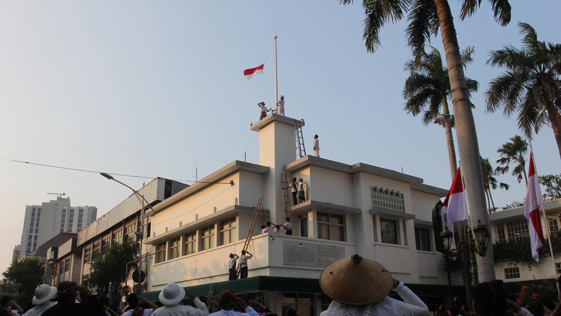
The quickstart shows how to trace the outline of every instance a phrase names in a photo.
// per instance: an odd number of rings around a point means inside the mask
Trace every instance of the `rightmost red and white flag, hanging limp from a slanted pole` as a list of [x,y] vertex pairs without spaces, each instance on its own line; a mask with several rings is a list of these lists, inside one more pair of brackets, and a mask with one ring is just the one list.
[[530,243],[532,246],[532,258],[539,261],[537,249],[544,246],[544,233],[541,230],[540,220],[540,187],[534,169],[534,154],[530,152],[530,169],[528,170],[528,186],[526,188],[526,203],[524,205],[524,216],[530,222]]

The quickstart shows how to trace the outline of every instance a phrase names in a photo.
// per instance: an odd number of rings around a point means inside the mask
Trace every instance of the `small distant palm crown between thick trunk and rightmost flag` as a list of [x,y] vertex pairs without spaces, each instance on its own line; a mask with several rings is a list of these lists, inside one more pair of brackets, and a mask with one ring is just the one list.
[[511,171],[511,174],[516,176],[518,183],[522,181],[522,176],[526,185],[528,185],[528,178],[526,177],[526,152],[528,152],[528,143],[519,135],[511,137],[511,141],[505,142],[498,150],[500,159],[496,162],[500,164],[495,168],[495,174],[505,174],[509,170],[510,164],[516,164]]

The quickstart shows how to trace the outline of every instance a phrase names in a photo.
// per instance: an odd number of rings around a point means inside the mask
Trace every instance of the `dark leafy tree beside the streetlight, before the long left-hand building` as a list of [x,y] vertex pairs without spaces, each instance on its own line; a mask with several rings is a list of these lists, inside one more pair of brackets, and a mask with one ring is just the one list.
[[131,240],[114,244],[105,253],[96,252],[91,259],[91,275],[88,285],[100,296],[108,296],[112,302],[120,299],[122,284],[126,281],[127,262],[137,258],[139,245]]

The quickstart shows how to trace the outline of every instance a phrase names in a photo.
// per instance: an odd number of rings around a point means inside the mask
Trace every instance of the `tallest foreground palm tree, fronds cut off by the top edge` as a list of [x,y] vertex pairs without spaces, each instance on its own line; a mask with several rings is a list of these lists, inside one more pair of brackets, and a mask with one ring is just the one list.
[[[353,0],[339,1],[342,4],[350,4]],[[502,26],[507,25],[511,21],[509,0],[489,0],[489,2],[495,20]],[[463,20],[477,11],[481,0],[461,0],[461,3],[460,17]],[[485,211],[481,158],[471,112],[470,92],[463,73],[456,28],[448,0],[363,0],[362,7],[366,15],[362,37],[369,52],[374,52],[380,46],[381,27],[387,22],[402,20],[404,13],[408,13],[409,22],[405,31],[407,42],[417,63],[420,63],[425,43],[440,30],[452,91],[450,99],[454,107],[458,151],[462,161],[467,202],[471,210],[470,221],[475,225],[480,220],[482,224],[491,227],[488,213]],[[477,256],[477,266],[480,282],[495,279],[492,244],[489,245],[485,257]]]

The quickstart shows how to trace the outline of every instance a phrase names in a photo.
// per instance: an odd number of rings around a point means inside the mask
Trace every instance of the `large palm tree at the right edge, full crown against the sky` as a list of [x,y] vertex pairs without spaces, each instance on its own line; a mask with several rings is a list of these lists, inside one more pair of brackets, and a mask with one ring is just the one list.
[[522,48],[510,45],[491,51],[488,64],[507,71],[489,83],[487,111],[503,108],[510,117],[518,115],[518,127],[532,139],[546,124],[553,128],[561,157],[561,44],[537,40],[537,33],[526,23],[518,23]]

